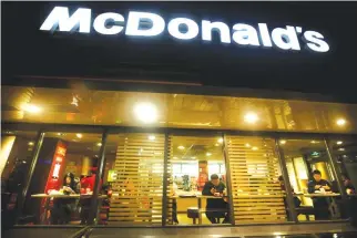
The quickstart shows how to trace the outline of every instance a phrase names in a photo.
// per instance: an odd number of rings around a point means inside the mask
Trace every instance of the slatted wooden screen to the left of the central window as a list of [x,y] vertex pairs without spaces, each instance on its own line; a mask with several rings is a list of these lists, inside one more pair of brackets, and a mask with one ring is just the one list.
[[163,134],[119,135],[109,225],[162,225],[164,141]]

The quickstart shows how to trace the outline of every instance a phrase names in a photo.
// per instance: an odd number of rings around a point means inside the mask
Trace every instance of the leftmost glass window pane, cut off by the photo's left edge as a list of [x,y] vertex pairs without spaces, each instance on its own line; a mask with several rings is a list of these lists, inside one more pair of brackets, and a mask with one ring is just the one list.
[[14,223],[17,201],[27,182],[37,132],[1,132],[1,207],[3,226]]

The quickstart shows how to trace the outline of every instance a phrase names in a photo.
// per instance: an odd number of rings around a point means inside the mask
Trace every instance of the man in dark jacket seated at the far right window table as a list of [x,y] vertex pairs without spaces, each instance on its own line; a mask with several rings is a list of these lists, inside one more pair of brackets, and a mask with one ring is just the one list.
[[[319,170],[313,172],[313,179],[308,182],[307,187],[309,194],[314,194],[316,190],[332,190],[332,185],[327,180],[322,178],[322,173]],[[314,197],[313,204],[315,208],[316,220],[329,219],[328,203],[325,197]]]

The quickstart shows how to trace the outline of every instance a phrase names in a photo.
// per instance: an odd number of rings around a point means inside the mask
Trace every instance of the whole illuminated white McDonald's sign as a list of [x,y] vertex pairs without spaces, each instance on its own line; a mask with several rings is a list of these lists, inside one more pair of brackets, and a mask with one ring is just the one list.
[[[99,34],[116,35],[123,33],[129,37],[152,38],[162,34],[165,29],[175,39],[192,40],[198,37],[203,41],[212,41],[213,32],[220,33],[222,43],[238,45],[278,48],[280,50],[300,51],[300,41],[305,48],[314,52],[327,52],[329,45],[324,35],[317,31],[303,31],[302,27],[286,25],[271,31],[266,23],[258,23],[257,28],[236,23],[232,29],[224,22],[202,20],[198,24],[188,18],[165,20],[152,12],[129,11],[128,20],[116,12],[104,12],[92,21],[92,10],[79,8],[70,15],[65,7],[55,7],[42,23],[42,31],[62,31],[91,33],[92,28]],[[126,22],[126,25],[125,25]]]

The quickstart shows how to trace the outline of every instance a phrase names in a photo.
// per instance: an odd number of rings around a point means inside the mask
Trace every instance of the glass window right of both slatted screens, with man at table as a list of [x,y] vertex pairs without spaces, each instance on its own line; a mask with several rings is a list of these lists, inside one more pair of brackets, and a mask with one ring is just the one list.
[[[339,190],[325,142],[318,138],[282,138],[279,146],[285,157],[298,220],[339,219]],[[284,186],[283,179],[280,183]]]

